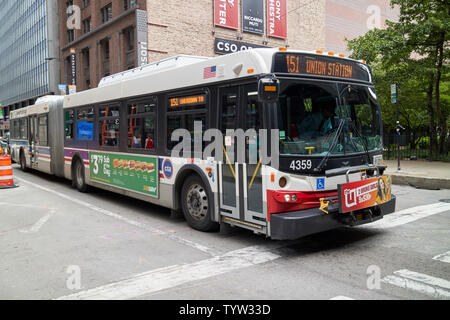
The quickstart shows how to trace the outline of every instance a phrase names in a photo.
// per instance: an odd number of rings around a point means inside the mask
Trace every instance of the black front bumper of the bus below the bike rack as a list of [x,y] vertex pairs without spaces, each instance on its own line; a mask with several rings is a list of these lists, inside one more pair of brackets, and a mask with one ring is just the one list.
[[[384,215],[395,211],[396,197],[380,205],[377,216],[360,221],[345,219],[350,214],[339,212],[325,214],[318,208],[289,213],[272,214],[270,221],[270,237],[274,240],[295,240],[310,234],[319,233],[344,226],[357,226],[382,219]],[[344,219],[342,217],[345,217]]]

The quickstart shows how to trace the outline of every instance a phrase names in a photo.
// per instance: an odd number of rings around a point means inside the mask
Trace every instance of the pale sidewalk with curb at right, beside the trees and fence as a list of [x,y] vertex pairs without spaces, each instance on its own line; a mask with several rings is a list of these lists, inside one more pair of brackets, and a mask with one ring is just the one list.
[[410,185],[420,189],[450,189],[450,162],[401,160],[397,172],[397,160],[385,160],[386,174],[392,175],[392,183]]

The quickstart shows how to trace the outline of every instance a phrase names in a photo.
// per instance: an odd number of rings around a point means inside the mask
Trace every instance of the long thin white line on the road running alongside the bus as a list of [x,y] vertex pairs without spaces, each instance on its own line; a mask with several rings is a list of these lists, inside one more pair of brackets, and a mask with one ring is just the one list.
[[117,220],[121,220],[121,221],[123,221],[123,222],[126,222],[126,223],[128,223],[128,224],[131,224],[131,225],[136,226],[136,227],[138,227],[138,228],[141,228],[141,229],[145,229],[145,230],[147,230],[147,231],[150,231],[150,232],[152,232],[152,233],[158,233],[158,234],[163,235],[163,236],[165,236],[165,237],[167,237],[167,238],[169,238],[169,239],[171,239],[171,240],[174,240],[174,241],[176,241],[176,242],[178,242],[178,243],[181,243],[181,244],[187,245],[187,246],[189,246],[189,247],[195,248],[195,249],[197,249],[197,250],[203,251],[203,252],[205,252],[205,253],[208,253],[208,254],[210,254],[211,256],[217,256],[217,255],[218,255],[217,251],[214,250],[214,249],[212,249],[212,248],[206,247],[206,246],[204,246],[204,245],[202,245],[202,244],[195,243],[195,242],[190,241],[190,240],[186,240],[186,239],[180,238],[180,237],[174,235],[173,233],[168,233],[168,232],[165,232],[165,231],[162,231],[162,230],[159,230],[159,229],[150,227],[150,226],[148,226],[148,225],[146,225],[146,224],[143,224],[143,223],[134,221],[134,220],[132,220],[132,219],[126,218],[126,217],[121,216],[121,215],[119,215],[119,214],[117,214],[117,213],[114,213],[114,212],[108,211],[108,210],[106,210],[106,209],[103,209],[103,208],[94,206],[94,205],[92,205],[92,204],[90,204],[90,203],[87,203],[87,202],[82,201],[82,200],[78,200],[78,199],[76,199],[76,198],[74,198],[74,197],[65,195],[65,194],[60,193],[60,192],[58,192],[58,191],[55,191],[55,190],[52,190],[52,189],[49,189],[49,188],[40,186],[40,185],[38,185],[38,184],[36,184],[36,183],[30,182],[30,181],[25,180],[25,179],[23,179],[23,178],[18,178],[18,177],[16,177],[16,179],[18,179],[18,180],[20,180],[20,181],[22,181],[22,182],[25,182],[25,183],[27,183],[27,184],[29,184],[29,185],[35,187],[35,188],[44,190],[44,191],[46,191],[46,192],[52,193],[52,194],[54,194],[54,195],[57,195],[58,197],[61,197],[61,198],[66,199],[66,200],[69,200],[69,201],[74,202],[74,203],[76,203],[76,204],[78,204],[78,205],[84,206],[84,207],[86,207],[86,208],[88,208],[88,209],[90,209],[90,210],[92,210],[92,211],[101,213],[101,214],[103,214],[103,215],[105,215],[105,216],[108,216],[108,217],[111,217],[111,218],[114,218],[114,219],[117,219]]

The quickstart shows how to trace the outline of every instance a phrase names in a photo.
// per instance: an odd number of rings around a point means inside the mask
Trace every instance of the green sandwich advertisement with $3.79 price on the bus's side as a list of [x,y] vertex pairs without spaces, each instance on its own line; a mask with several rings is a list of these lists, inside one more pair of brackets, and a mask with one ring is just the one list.
[[158,159],[123,154],[89,153],[93,181],[158,197]]

